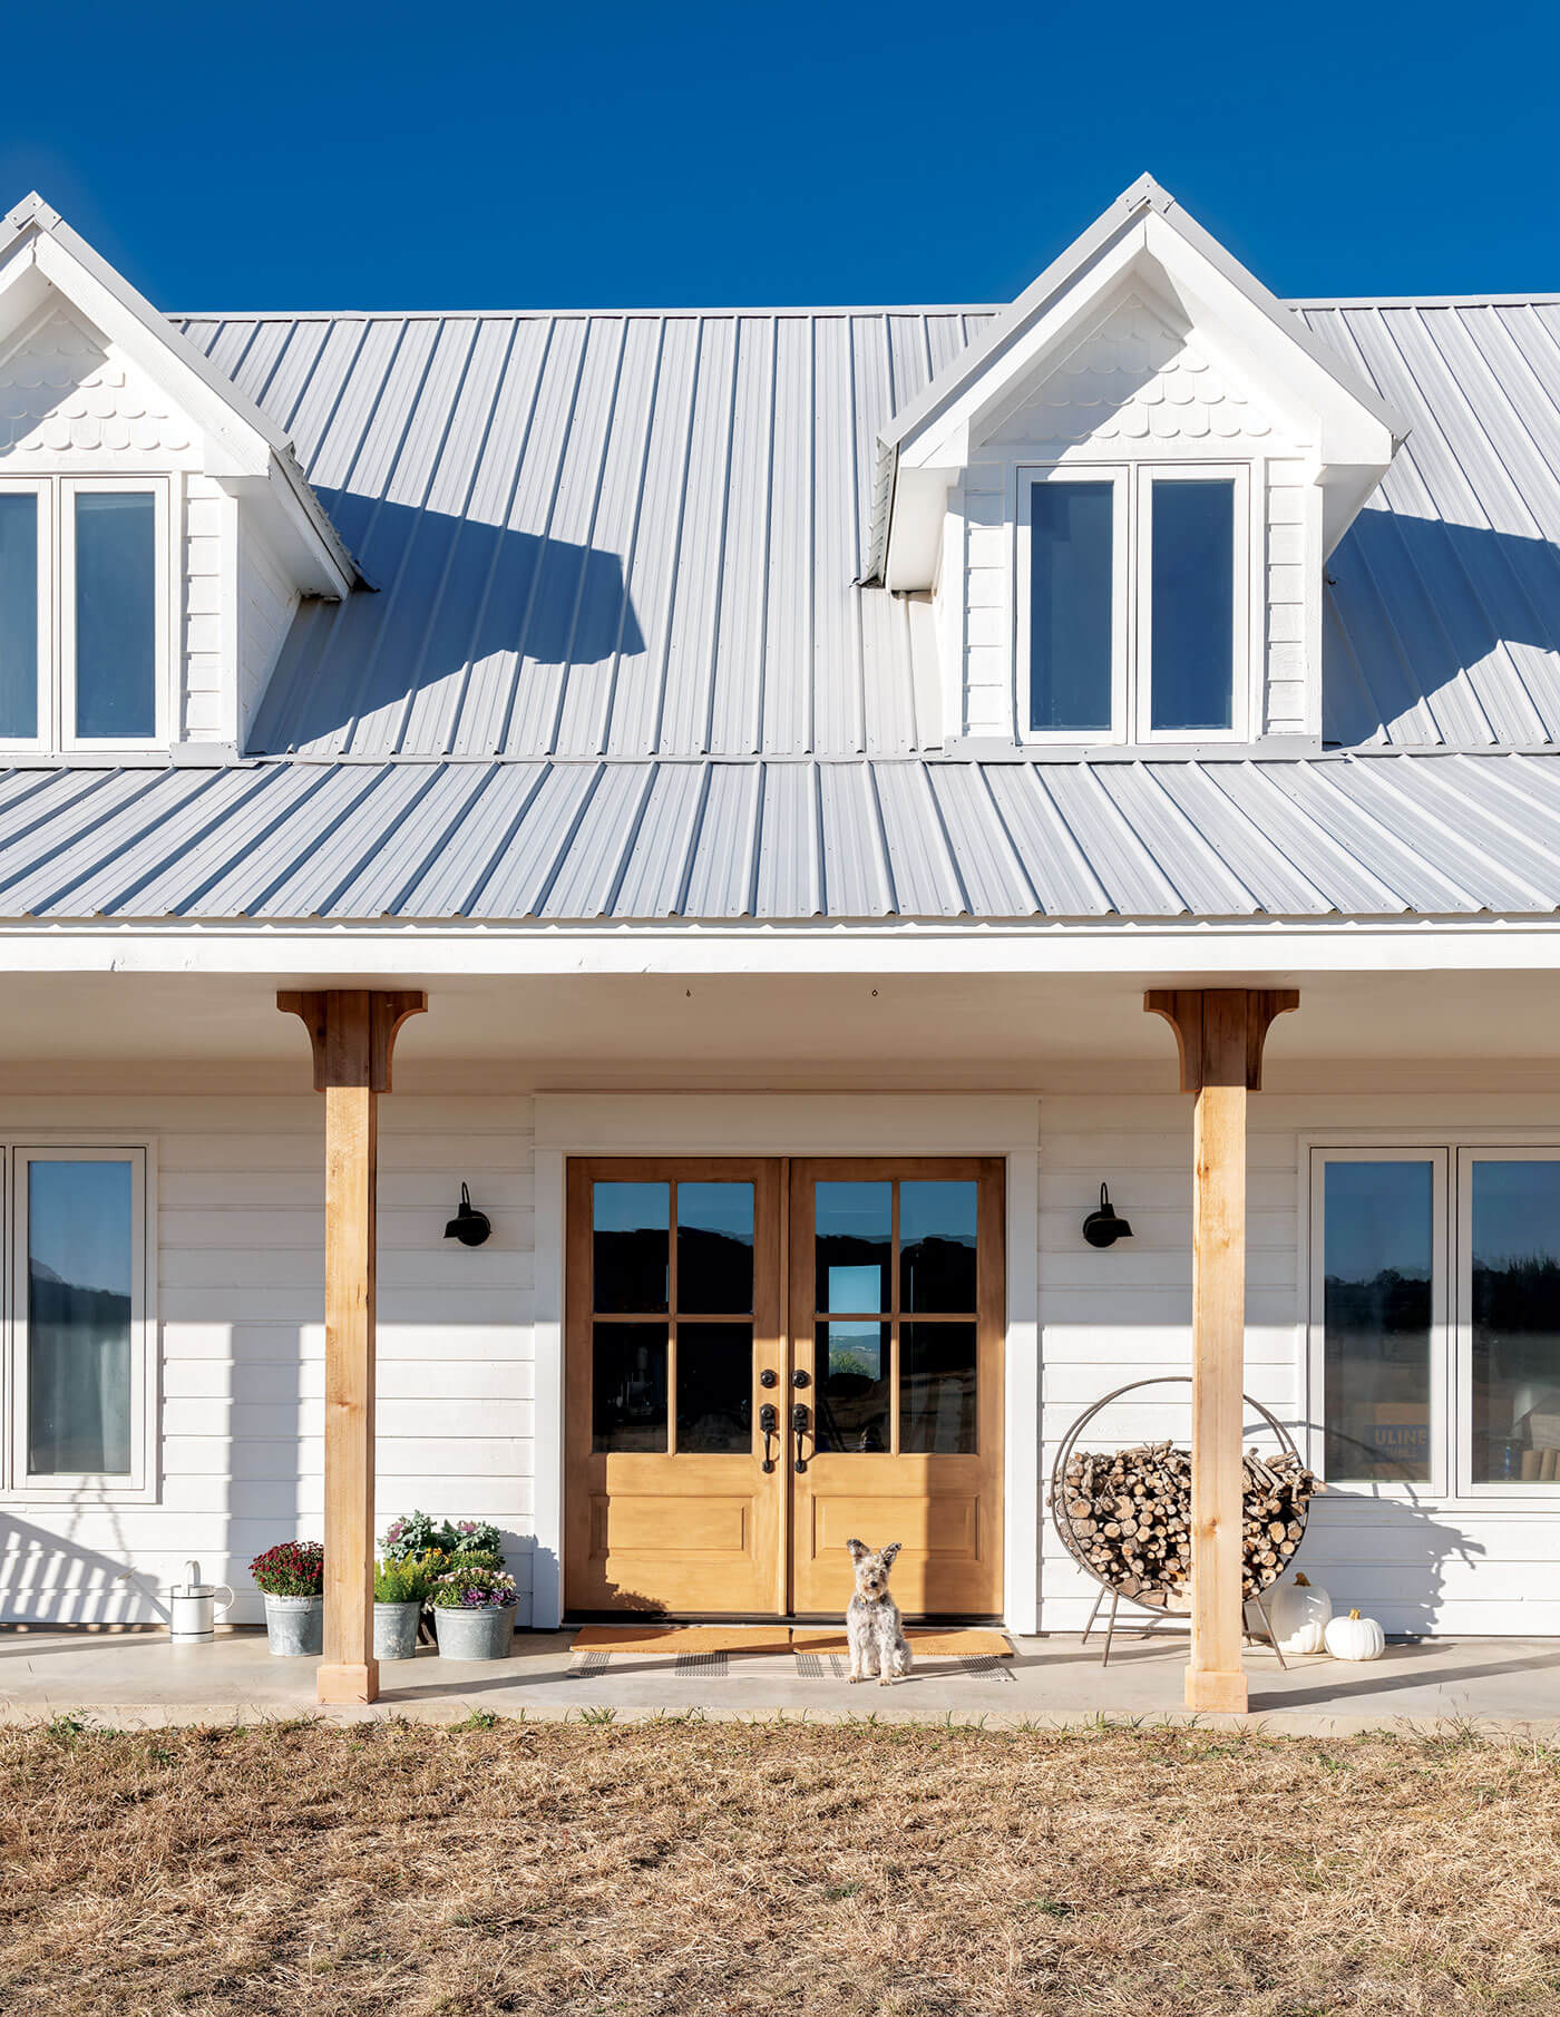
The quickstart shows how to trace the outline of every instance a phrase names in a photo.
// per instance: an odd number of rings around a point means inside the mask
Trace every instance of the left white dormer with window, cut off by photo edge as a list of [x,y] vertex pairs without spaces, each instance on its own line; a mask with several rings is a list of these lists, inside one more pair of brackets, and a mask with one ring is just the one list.
[[0,760],[220,760],[357,575],[285,436],[42,198],[0,226]]

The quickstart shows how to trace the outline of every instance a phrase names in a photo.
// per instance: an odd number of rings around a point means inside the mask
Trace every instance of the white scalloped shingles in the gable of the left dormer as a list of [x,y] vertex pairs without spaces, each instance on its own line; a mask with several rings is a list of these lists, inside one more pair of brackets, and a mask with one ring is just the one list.
[[0,450],[159,454],[190,440],[190,424],[69,315],[0,361]]

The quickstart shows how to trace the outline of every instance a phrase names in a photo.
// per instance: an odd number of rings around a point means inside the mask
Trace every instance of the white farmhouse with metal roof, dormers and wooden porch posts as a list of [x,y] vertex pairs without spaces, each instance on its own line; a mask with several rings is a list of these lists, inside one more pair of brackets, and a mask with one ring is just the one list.
[[1560,1634],[1560,299],[1146,177],[1005,309],[0,240],[2,1618],[307,1533],[371,1698],[422,1505],[523,1624],[1078,1630],[1057,1442],[1195,1374],[1195,1706],[1243,1392],[1388,1630]]

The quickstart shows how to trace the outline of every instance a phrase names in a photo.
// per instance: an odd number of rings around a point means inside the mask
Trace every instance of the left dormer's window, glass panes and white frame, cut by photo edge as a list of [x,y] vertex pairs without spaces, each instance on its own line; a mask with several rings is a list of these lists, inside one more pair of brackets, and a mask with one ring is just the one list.
[[0,748],[168,740],[168,484],[0,480]]

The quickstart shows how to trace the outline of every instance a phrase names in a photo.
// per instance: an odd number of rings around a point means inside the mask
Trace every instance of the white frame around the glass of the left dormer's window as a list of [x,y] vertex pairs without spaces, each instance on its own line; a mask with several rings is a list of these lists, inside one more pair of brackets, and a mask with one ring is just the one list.
[[[174,722],[174,512],[165,476],[71,472],[61,476],[2,476],[0,490],[38,498],[38,734],[0,736],[4,750],[93,750],[95,754],[165,750]],[[155,726],[149,736],[79,736],[75,668],[75,500],[91,492],[149,492],[155,502],[153,581],[153,694]]]

